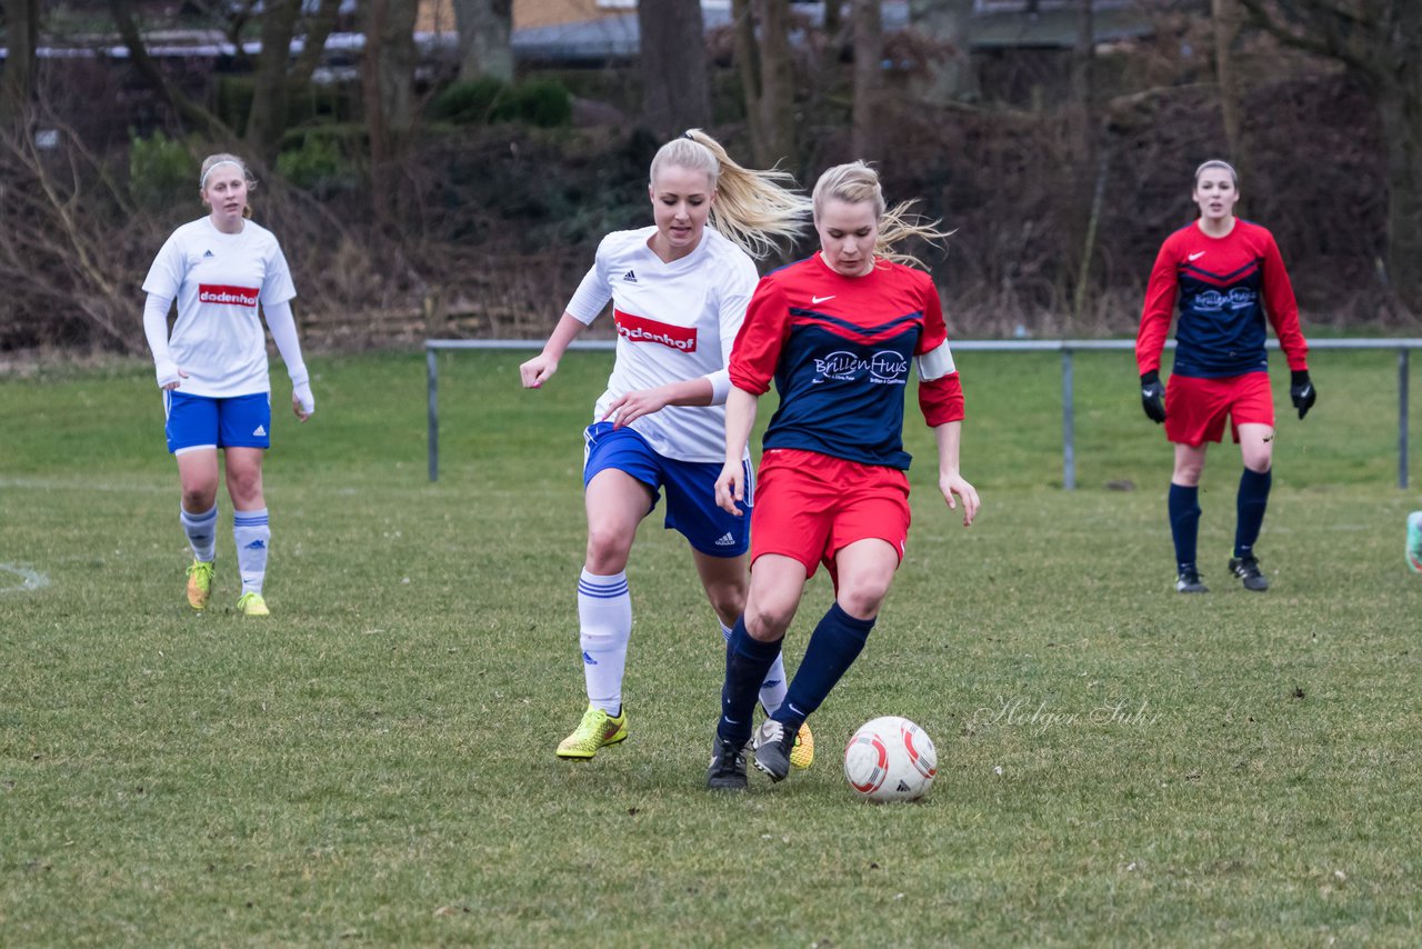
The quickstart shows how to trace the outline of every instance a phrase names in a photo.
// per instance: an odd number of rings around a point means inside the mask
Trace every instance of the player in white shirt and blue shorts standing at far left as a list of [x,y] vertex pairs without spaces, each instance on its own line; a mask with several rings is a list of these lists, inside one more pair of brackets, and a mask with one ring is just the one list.
[[[192,545],[188,605],[206,609],[218,534],[218,448],[223,450],[232,534],[237,545],[243,616],[266,616],[267,526],[262,452],[270,445],[272,383],[257,304],[292,377],[292,411],[316,411],[292,317],[292,272],[276,238],[249,221],[247,192],[256,182],[235,155],[202,162],[198,193],[210,208],[164,243],[144,292],[144,332],[158,369],[168,418],[168,451],[178,458],[182,528]],[[168,307],[178,322],[168,336]]]

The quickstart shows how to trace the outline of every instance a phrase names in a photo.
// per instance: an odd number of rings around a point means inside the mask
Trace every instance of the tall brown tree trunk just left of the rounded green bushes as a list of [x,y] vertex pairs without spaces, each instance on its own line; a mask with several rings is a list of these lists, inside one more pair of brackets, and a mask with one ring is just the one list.
[[370,132],[371,201],[383,226],[394,223],[395,174],[415,124],[417,0],[371,0],[361,83]]

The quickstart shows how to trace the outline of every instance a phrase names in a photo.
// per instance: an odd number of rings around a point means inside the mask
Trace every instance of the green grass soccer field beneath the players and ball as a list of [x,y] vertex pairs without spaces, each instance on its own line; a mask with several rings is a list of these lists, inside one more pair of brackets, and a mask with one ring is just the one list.
[[[579,431],[609,357],[523,393],[525,356],[442,357],[438,484],[419,354],[311,360],[317,415],[273,424],[264,622],[230,609],[226,498],[215,608],[183,600],[151,370],[0,378],[0,945],[1416,945],[1422,495],[1391,354],[1315,354],[1314,413],[1280,413],[1268,593],[1224,575],[1214,451],[1194,598],[1129,354],[1078,357],[1075,492],[1057,357],[961,354],[978,524],[910,411],[909,555],[819,758],[732,797],[702,788],[721,637],[657,516],[631,738],[552,754],[584,704]],[[791,666],[828,602],[816,578]],[[843,783],[886,713],[937,744],[919,804]]]

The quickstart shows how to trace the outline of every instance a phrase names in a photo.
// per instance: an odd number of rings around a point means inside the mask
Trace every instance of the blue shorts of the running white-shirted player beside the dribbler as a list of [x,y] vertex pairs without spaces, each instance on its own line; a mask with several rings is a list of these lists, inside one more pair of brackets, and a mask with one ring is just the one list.
[[614,468],[630,474],[651,488],[651,514],[667,492],[668,531],[678,531],[694,551],[707,556],[741,556],[751,549],[749,508],[755,504],[755,470],[745,467],[747,514],[727,514],[715,502],[715,479],[721,465],[714,461],[677,461],[658,455],[647,440],[631,428],[613,428],[610,421],[593,423],[583,433],[583,487],[599,471]]

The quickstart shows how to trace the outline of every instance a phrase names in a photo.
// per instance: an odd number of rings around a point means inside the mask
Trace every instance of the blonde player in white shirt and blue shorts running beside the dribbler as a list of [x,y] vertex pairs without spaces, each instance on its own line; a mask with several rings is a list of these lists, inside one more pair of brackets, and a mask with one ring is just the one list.
[[[663,145],[647,186],[653,226],[603,239],[543,351],[519,367],[525,387],[543,386],[569,343],[611,300],[617,360],[583,435],[587,553],[577,617],[589,704],[557,746],[560,758],[592,758],[627,737],[626,568],[637,524],[660,491],[667,492],[665,526],[691,544],[722,635],[745,606],[747,529],[714,502],[725,442],[725,359],[755,289],[751,256],[765,256],[809,218],[809,199],[788,191],[788,182],[784,172],[737,165],[697,129]],[[761,701],[778,707],[784,667],[761,679]],[[808,731],[798,751],[796,763],[808,767]]]

